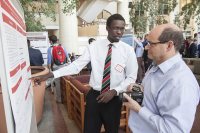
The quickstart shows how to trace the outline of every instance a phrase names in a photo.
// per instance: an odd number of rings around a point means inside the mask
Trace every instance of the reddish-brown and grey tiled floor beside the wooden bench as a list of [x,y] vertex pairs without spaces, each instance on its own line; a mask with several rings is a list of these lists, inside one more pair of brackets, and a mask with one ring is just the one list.
[[[198,106],[195,123],[191,133],[200,133],[200,105]],[[80,133],[73,120],[67,115],[66,108],[61,103],[56,103],[54,95],[47,89],[43,118],[38,124],[39,133]],[[123,131],[119,131],[123,133]]]

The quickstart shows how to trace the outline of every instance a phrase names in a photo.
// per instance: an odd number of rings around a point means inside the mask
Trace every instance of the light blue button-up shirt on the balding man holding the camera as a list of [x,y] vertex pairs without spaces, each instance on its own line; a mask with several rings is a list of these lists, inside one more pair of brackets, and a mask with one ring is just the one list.
[[142,82],[139,113],[130,112],[134,133],[189,133],[199,103],[199,85],[180,54],[153,66]]

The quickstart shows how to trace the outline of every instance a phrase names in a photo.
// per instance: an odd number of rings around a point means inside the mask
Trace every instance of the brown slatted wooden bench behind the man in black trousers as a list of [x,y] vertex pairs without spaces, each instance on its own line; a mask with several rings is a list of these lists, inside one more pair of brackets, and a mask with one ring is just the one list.
[[[77,126],[83,132],[84,128],[84,112],[85,112],[85,94],[89,91],[88,84],[82,84],[76,79],[66,81],[69,85],[66,88],[67,110],[69,118],[72,118]],[[123,128],[128,133],[128,108],[123,104],[120,119],[120,128]],[[101,132],[104,132],[102,127]]]

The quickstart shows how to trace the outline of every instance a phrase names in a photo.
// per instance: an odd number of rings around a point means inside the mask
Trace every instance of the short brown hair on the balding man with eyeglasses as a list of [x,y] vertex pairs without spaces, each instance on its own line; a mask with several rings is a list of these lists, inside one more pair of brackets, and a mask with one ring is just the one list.
[[184,42],[183,32],[173,28],[165,28],[158,40],[160,42],[173,41],[176,51],[179,51]]

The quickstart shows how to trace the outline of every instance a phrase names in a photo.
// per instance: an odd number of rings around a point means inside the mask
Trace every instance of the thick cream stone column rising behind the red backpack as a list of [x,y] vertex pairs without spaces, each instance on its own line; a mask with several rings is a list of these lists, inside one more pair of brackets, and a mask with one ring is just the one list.
[[78,53],[78,24],[76,9],[73,14],[63,13],[63,2],[59,0],[59,42],[69,53]]

